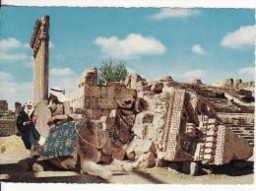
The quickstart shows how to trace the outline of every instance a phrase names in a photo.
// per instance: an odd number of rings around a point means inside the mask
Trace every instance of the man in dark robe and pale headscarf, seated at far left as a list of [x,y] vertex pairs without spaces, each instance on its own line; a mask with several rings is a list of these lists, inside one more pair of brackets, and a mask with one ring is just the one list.
[[32,145],[37,143],[39,139],[39,134],[32,124],[33,112],[32,100],[28,100],[16,121],[17,128],[22,134],[22,140],[27,150],[31,150]]

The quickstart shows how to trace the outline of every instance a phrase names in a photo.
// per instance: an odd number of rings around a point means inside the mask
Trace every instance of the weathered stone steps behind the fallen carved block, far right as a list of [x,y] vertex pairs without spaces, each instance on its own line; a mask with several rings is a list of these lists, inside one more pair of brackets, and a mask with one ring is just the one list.
[[[254,105],[246,103],[242,97],[232,90],[193,89],[198,95],[204,96],[218,113],[224,125],[230,128],[236,135],[243,137],[254,146]],[[232,96],[240,101],[226,98]],[[244,102],[244,103],[243,103]]]

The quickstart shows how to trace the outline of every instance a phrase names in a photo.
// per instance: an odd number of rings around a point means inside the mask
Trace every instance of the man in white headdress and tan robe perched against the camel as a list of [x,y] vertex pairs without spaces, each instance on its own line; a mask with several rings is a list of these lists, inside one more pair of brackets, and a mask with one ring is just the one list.
[[43,144],[49,136],[49,130],[55,125],[67,122],[71,114],[71,108],[68,98],[63,95],[63,91],[59,87],[50,89],[48,100],[42,100],[38,103],[32,122],[35,129],[40,134],[38,145],[33,155],[39,155]]

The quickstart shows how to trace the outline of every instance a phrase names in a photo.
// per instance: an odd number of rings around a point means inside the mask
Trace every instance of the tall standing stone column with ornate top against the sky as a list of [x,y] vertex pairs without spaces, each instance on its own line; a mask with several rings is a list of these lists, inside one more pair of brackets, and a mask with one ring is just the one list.
[[33,50],[33,103],[48,96],[49,16],[36,20],[30,43]]

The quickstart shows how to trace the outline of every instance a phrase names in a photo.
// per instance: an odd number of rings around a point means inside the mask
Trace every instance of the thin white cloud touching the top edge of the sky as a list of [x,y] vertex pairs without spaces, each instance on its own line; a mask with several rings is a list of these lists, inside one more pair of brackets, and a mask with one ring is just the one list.
[[160,13],[152,16],[151,19],[163,20],[168,18],[185,18],[190,16],[197,16],[199,14],[200,12],[198,10],[163,8],[160,9]]

